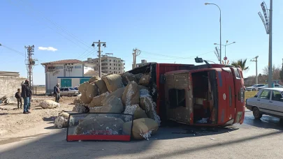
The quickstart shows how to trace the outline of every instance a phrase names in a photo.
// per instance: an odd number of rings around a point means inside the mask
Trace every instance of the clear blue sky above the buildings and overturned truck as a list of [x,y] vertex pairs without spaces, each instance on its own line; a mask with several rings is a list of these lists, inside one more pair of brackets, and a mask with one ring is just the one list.
[[[230,61],[248,59],[247,75],[268,65],[268,35],[257,14],[261,0],[145,0],[145,1],[1,1],[0,70],[27,77],[24,45],[35,45],[39,63],[61,59],[95,58],[92,42],[106,41],[103,53],[114,53],[131,69],[132,50],[142,50],[137,61],[194,63],[195,56],[217,62],[214,43],[219,43],[219,10],[222,9],[222,44]],[[269,8],[269,1],[266,1]],[[283,1],[273,1],[273,64],[283,58]],[[281,46],[280,46],[281,44]],[[38,50],[54,47],[57,51]],[[17,50],[18,52],[15,52]],[[87,50],[87,51],[86,51]],[[224,50],[222,51],[224,56]],[[44,68],[34,68],[34,84],[45,84]]]

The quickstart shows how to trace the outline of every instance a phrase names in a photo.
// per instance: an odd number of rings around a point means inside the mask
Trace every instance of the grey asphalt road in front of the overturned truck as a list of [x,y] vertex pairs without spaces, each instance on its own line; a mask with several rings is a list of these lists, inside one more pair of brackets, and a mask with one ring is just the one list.
[[229,128],[160,128],[150,141],[66,142],[65,130],[0,142],[0,158],[283,158],[279,119],[245,122]]

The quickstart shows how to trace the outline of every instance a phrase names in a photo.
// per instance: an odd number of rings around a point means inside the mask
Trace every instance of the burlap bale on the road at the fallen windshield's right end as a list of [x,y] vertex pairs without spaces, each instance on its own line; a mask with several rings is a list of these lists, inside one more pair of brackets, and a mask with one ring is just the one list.
[[[123,124],[124,134],[131,132],[132,121]],[[158,130],[158,123],[152,119],[142,118],[133,120],[132,135],[134,139],[149,139]]]

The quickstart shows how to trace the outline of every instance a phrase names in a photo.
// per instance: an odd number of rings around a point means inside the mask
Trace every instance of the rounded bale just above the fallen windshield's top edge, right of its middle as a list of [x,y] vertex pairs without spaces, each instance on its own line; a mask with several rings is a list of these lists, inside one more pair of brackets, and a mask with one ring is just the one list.
[[124,111],[124,105],[122,104],[121,99],[110,96],[105,103],[103,103],[103,107],[101,108],[101,112],[108,113],[122,113]]

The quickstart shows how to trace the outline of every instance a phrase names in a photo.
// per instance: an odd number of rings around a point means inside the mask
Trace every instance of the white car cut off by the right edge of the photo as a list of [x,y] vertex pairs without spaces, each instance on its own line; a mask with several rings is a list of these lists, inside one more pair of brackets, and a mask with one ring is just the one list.
[[283,119],[283,88],[259,90],[256,96],[246,99],[246,107],[255,119],[261,119],[263,114]]

